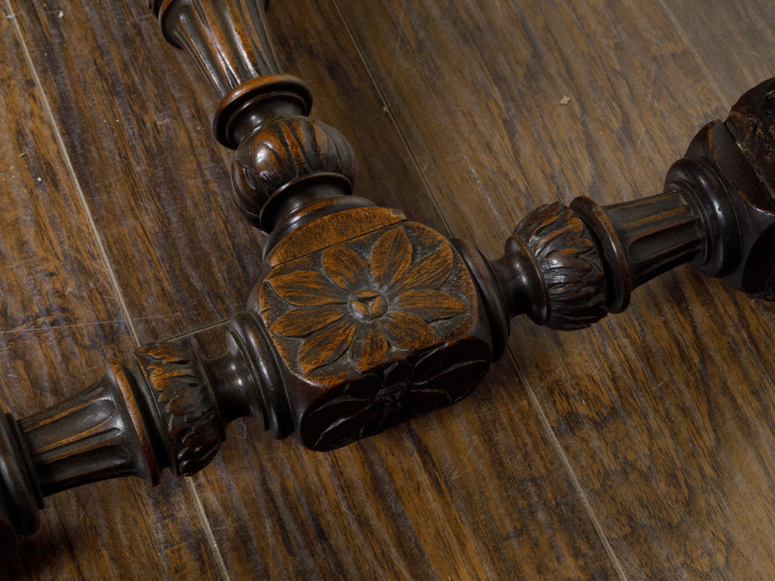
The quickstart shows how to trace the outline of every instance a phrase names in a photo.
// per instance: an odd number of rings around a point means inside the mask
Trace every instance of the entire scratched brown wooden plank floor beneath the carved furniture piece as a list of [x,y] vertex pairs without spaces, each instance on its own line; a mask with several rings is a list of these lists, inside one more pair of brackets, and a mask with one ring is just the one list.
[[[145,0],[0,1],[0,396],[24,415],[133,345],[215,355],[262,238]],[[359,193],[490,256],[536,205],[657,193],[775,75],[770,0],[272,0],[270,24]],[[584,332],[515,321],[477,394],[366,442],[237,421],[191,479],[52,497],[7,575],[770,581],[773,332],[683,267]]]

